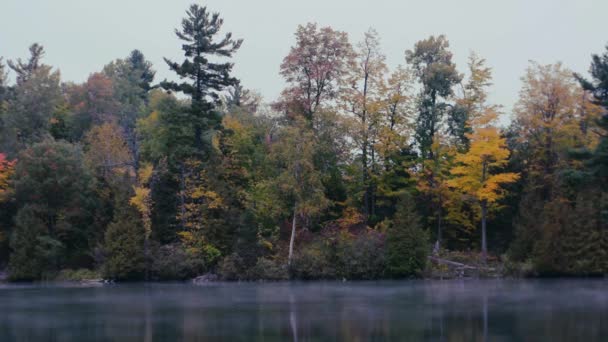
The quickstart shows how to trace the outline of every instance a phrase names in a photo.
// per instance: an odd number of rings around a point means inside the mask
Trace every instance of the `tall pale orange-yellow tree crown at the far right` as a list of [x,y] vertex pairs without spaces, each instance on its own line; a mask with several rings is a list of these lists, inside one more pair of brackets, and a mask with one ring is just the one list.
[[580,167],[568,158],[573,147],[593,148],[600,134],[593,133],[602,110],[562,64],[532,62],[522,77],[515,122],[520,127],[518,141],[529,146],[526,173],[529,183],[543,188],[546,197],[557,180],[556,170]]

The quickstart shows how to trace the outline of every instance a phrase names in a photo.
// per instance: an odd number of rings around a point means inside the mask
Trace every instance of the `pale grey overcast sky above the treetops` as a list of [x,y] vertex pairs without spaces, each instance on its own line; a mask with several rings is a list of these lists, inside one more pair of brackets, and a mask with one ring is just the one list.
[[[64,80],[81,82],[109,61],[140,49],[157,80],[172,78],[162,57],[180,60],[175,37],[194,0],[1,0],[0,56],[26,57],[33,42]],[[592,53],[608,43],[608,0],[207,0],[224,28],[245,42],[234,59],[247,88],[274,100],[284,84],[279,65],[299,24],[348,32],[352,42],[374,27],[389,66],[429,35],[446,34],[462,72],[470,51],[494,69],[491,100],[507,112],[529,60],[562,61],[586,73]]]

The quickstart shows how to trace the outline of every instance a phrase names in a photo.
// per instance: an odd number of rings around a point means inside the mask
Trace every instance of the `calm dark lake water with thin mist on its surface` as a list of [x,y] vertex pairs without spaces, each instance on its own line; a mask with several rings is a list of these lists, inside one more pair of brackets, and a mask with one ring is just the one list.
[[608,341],[608,280],[0,285],[0,341]]

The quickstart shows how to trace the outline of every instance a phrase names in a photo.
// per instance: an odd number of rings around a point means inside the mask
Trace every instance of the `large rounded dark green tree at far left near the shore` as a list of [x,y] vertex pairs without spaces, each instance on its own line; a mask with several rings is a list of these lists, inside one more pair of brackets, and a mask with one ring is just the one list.
[[[96,197],[92,184],[78,146],[46,140],[22,151],[12,183],[17,216],[21,215],[13,229],[13,252],[27,256],[45,249],[44,243],[48,242],[62,246],[61,253],[53,254],[49,270],[91,266],[99,228],[94,220]],[[35,224],[30,227],[28,222]],[[19,238],[31,234],[36,238]],[[11,269],[22,268],[19,260],[25,259],[11,257]]]

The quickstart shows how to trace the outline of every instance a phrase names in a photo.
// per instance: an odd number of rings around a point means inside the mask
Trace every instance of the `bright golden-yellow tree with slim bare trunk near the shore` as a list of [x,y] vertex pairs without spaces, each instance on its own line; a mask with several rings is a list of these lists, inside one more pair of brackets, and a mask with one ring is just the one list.
[[466,153],[456,156],[456,166],[448,180],[448,185],[473,200],[481,209],[481,252],[483,260],[487,256],[486,219],[488,205],[495,203],[505,195],[502,185],[513,183],[519,174],[512,172],[499,173],[509,158],[505,138],[500,136],[498,128],[492,125],[496,119],[494,111],[488,111],[480,118],[480,127],[468,135],[470,148]]

